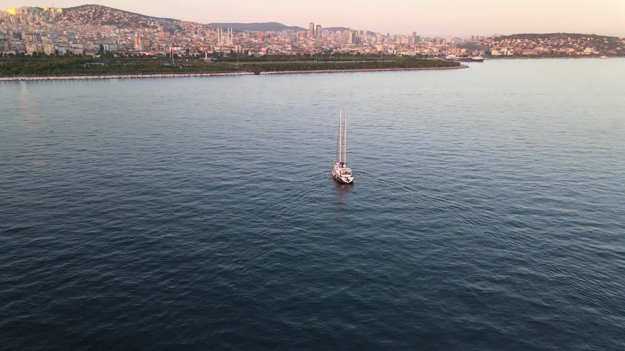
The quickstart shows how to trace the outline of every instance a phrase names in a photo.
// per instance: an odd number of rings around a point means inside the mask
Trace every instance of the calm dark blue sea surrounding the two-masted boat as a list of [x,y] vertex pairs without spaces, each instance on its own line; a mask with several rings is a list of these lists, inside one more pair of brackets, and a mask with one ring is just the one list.
[[623,350],[624,64],[4,82],[2,349]]

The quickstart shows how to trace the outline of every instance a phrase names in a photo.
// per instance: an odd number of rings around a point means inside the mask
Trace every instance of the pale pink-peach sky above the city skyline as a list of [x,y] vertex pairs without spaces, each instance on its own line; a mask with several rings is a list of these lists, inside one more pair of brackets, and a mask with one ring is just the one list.
[[[574,32],[625,36],[625,0],[56,0],[96,3],[186,21],[281,22],[422,36]],[[0,0],[0,8],[52,7],[52,0]]]

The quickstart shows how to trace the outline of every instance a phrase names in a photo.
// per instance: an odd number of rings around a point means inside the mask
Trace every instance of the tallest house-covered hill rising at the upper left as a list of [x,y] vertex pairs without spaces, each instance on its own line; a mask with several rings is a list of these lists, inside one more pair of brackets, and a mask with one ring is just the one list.
[[56,17],[56,21],[69,21],[83,24],[109,24],[116,26],[159,27],[165,29],[179,29],[178,21],[172,18],[145,16],[134,12],[114,9],[101,5],[81,5],[63,9],[63,15]]

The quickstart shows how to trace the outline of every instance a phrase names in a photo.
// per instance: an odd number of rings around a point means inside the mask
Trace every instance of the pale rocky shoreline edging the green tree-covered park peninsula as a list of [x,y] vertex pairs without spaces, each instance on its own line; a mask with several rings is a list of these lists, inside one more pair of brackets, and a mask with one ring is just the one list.
[[[413,68],[380,68],[380,69],[319,69],[314,71],[277,71],[259,72],[259,74],[301,74],[301,73],[341,73],[341,72],[379,72],[379,71],[421,71],[429,69],[468,68],[464,64],[451,67],[413,67]],[[134,78],[175,78],[175,77],[218,77],[218,76],[252,76],[254,72],[221,72],[221,73],[163,73],[163,74],[111,74],[108,76],[39,76],[39,77],[0,77],[0,82],[9,81],[83,81],[91,79],[134,79]]]

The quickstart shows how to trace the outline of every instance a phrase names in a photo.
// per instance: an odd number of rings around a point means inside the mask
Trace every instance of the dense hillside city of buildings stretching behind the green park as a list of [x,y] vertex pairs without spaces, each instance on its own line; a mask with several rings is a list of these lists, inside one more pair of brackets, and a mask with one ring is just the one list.
[[242,31],[234,27],[159,19],[98,5],[70,9],[20,7],[0,12],[0,52],[95,55],[104,49],[149,55],[185,52],[201,56],[214,52],[265,55],[330,51],[427,57],[584,56],[624,54],[625,47],[622,38],[577,34],[422,37],[416,31],[383,35],[351,28],[324,28],[314,22],[309,23],[307,30],[284,28],[281,31]]

